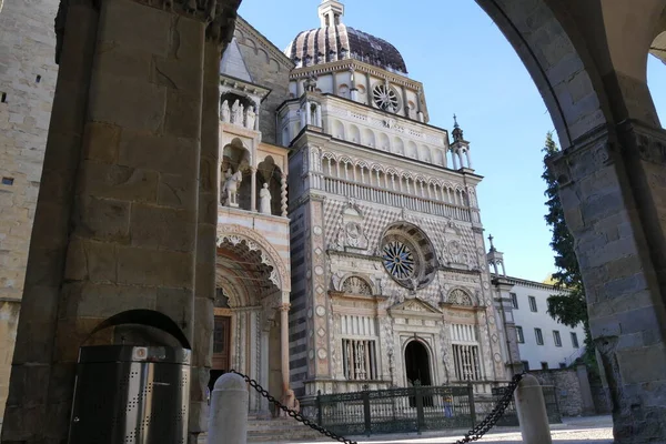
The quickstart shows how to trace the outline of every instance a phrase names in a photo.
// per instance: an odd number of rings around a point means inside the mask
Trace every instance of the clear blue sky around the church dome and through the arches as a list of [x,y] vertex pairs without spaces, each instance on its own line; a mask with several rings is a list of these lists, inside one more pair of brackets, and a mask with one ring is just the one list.
[[[280,49],[319,28],[317,0],[243,0],[240,14]],[[543,148],[554,130],[546,107],[513,48],[473,0],[347,0],[346,26],[393,43],[410,78],[424,83],[431,122],[472,143],[486,238],[505,253],[508,274],[543,281],[554,269],[544,221]],[[666,122],[666,65],[648,61],[653,98]]]

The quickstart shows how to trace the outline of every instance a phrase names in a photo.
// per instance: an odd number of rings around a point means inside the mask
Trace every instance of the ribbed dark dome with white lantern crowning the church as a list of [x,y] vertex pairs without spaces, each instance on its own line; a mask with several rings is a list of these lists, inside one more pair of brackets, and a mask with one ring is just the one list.
[[340,2],[324,1],[320,6],[322,27],[300,32],[284,53],[297,68],[356,59],[387,71],[407,73],[405,61],[393,44],[344,26],[343,11]]

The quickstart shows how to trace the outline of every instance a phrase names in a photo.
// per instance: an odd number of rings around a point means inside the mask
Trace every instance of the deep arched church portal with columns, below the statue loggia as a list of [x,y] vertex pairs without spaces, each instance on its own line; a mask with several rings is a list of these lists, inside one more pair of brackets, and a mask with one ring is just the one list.
[[[233,232],[232,225],[225,228]],[[279,315],[284,289],[275,278],[275,258],[254,236],[219,231],[211,380],[234,369],[281,398],[289,369],[283,362]],[[263,397],[250,393],[251,412],[268,415],[270,410]]]

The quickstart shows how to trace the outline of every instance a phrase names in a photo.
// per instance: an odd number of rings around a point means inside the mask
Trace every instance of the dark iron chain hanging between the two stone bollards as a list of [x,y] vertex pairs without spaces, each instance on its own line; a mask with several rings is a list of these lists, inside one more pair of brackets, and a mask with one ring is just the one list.
[[[273,403],[273,405],[275,405],[278,408],[282,410],[289,416],[291,416],[294,420],[296,420],[296,421],[305,424],[310,428],[313,428],[313,430],[317,431],[322,435],[324,435],[326,437],[330,437],[333,441],[337,441],[337,442],[345,443],[345,444],[357,444],[356,441],[347,440],[344,436],[340,436],[340,435],[337,435],[337,434],[335,434],[335,433],[333,433],[331,431],[327,431],[326,428],[322,427],[321,425],[319,425],[316,423],[313,423],[312,421],[310,421],[309,418],[306,418],[305,416],[303,416],[301,413],[289,408],[286,405],[282,404],[280,401],[275,400],[275,397],[272,396],[264,387],[262,387],[256,381],[250,379],[249,376],[246,376],[246,375],[244,375],[244,374],[242,374],[240,372],[236,372],[235,370],[231,370],[230,373],[235,373],[239,376],[241,376],[243,380],[245,380],[245,382],[248,384],[250,384],[250,386],[252,389],[254,389],[263,397],[265,397],[266,400],[269,400],[270,403]],[[497,404],[491,411],[491,413],[488,413],[487,416],[481,423],[478,423],[474,428],[470,430],[465,434],[465,437],[463,437],[462,440],[457,440],[453,444],[466,444],[466,443],[470,443],[472,441],[478,441],[491,428],[493,428],[493,426],[495,426],[495,424],[497,423],[497,421],[500,421],[500,418],[504,414],[504,411],[506,410],[506,407],[508,406],[508,404],[511,404],[511,400],[513,397],[513,394],[514,394],[516,387],[518,386],[518,383],[523,379],[523,375],[525,375],[525,372],[518,373],[518,374],[514,375],[514,377],[512,379],[511,383],[506,387],[506,390],[504,392],[504,395],[497,402]]]

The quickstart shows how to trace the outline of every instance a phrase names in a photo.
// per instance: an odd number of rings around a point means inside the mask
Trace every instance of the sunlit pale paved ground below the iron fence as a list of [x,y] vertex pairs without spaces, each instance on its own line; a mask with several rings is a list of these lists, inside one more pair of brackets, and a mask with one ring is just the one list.
[[[359,444],[453,444],[462,438],[464,431],[432,432],[418,435],[384,435],[384,436],[355,436]],[[613,420],[610,416],[567,417],[563,424],[551,426],[551,436],[554,444],[613,444]],[[521,432],[517,427],[501,427],[493,430],[480,444],[521,444]],[[264,443],[291,444],[291,443]],[[307,444],[300,442],[297,444]],[[316,443],[316,444],[321,444]]]

